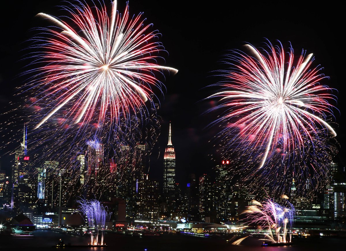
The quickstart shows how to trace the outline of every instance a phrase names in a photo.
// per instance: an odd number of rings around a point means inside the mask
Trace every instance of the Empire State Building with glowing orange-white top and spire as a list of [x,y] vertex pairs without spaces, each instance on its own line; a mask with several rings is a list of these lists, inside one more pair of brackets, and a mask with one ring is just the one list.
[[168,144],[163,157],[163,192],[173,193],[175,185],[175,152],[172,145],[171,123]]

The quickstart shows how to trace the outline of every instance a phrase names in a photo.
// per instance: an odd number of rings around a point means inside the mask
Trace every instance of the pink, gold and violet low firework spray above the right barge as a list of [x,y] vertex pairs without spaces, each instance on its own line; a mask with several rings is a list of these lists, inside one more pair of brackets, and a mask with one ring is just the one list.
[[[285,199],[287,196],[282,198]],[[272,199],[266,199],[262,203],[252,202],[254,205],[248,206],[247,210],[243,212],[243,214],[247,214],[247,224],[258,224],[258,232],[266,230],[265,238],[268,239],[263,240],[278,243],[287,242],[287,227],[292,228],[293,224],[293,205],[288,200],[285,200],[287,207],[281,206]],[[272,231],[275,233],[275,238]]]

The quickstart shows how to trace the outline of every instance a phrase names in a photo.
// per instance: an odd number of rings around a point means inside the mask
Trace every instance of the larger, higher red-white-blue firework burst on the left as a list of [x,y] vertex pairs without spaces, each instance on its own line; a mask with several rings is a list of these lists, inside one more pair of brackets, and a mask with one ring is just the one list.
[[69,123],[82,125],[96,118],[101,127],[106,120],[117,125],[120,117],[129,119],[138,111],[145,116],[148,100],[155,107],[152,87],[161,91],[161,83],[154,72],[177,70],[156,63],[164,48],[155,41],[159,34],[148,31],[152,24],[145,25],[143,13],[131,18],[128,5],[123,16],[116,8],[113,1],[108,15],[105,5],[78,2],[64,7],[71,16],[66,21],[38,14],[55,27],[43,28],[51,37],[33,39],[38,42],[33,47],[43,49],[33,56],[34,64],[45,66],[25,73],[35,75],[29,86],[38,91],[38,102],[51,100],[36,129],[64,107]]

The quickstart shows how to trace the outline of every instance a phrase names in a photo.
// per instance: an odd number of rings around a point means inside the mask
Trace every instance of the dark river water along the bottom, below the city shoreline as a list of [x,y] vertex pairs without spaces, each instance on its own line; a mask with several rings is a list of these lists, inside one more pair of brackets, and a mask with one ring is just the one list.
[[[105,242],[108,247],[105,248],[68,248],[68,249],[52,249],[59,239],[67,245],[87,245],[90,241],[89,236],[73,236],[68,234],[56,233],[53,231],[35,231],[34,238],[8,238],[0,237],[0,250],[138,250],[156,251],[156,250],[174,250],[174,251],[193,251],[193,250],[208,250],[208,251],[331,251],[333,248],[346,247],[346,239],[337,238],[294,238],[295,245],[287,247],[261,247],[262,241],[258,237],[249,237],[242,242],[242,245],[231,245],[222,238],[199,238],[186,235],[163,235],[163,236],[148,236],[134,237],[120,235],[115,233],[106,233]],[[244,236],[239,236],[239,238]],[[25,248],[25,249],[23,249]]]

